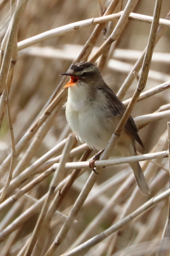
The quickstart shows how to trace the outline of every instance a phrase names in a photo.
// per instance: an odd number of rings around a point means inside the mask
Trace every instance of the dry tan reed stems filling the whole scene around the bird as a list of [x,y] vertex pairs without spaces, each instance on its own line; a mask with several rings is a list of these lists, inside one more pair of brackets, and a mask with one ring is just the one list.
[[[0,256],[169,255],[169,11],[169,0],[0,1]],[[62,109],[59,74],[76,60],[130,102],[100,174]],[[122,158],[113,147],[131,112],[146,152]]]

